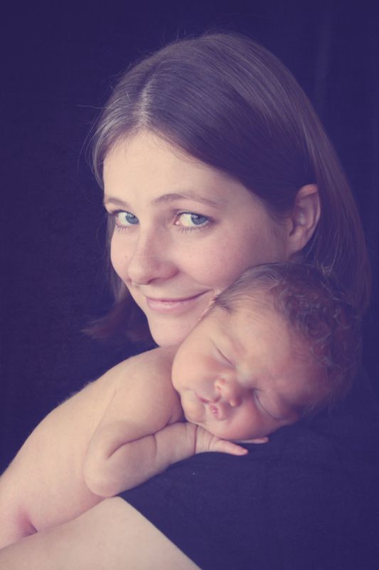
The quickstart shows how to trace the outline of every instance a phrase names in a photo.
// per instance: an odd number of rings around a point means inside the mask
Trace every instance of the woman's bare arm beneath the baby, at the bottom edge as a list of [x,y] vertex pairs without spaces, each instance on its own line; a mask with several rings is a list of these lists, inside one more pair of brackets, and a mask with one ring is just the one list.
[[119,497],[77,519],[0,550],[6,570],[198,570],[153,524]]

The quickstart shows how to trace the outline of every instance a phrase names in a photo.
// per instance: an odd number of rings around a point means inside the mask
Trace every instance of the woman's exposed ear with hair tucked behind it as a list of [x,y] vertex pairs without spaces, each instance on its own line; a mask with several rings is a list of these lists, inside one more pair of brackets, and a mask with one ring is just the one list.
[[309,242],[320,219],[319,190],[315,184],[302,186],[297,192],[294,208],[289,216],[287,259]]

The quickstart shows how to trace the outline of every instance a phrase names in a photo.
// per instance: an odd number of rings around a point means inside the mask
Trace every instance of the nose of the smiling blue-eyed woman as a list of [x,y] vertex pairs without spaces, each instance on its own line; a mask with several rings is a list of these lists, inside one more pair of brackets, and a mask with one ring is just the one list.
[[135,284],[144,285],[154,279],[169,279],[175,272],[168,244],[159,236],[139,236],[127,256],[129,279]]

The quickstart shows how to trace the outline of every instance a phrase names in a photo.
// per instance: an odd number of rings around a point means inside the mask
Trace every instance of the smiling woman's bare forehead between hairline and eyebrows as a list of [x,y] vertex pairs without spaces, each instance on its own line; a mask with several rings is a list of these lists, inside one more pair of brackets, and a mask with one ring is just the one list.
[[243,199],[262,206],[252,192],[225,172],[149,132],[119,140],[105,157],[103,178],[106,199],[119,192],[149,192],[161,202],[183,198],[217,207]]

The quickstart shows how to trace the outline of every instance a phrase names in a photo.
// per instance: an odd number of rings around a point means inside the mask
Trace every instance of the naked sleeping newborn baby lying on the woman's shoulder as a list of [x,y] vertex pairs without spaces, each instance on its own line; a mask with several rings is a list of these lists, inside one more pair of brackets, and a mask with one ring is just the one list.
[[179,348],[129,358],[36,427],[0,477],[0,547],[193,454],[244,455],[238,442],[342,398],[358,346],[351,308],[318,271],[246,271]]

